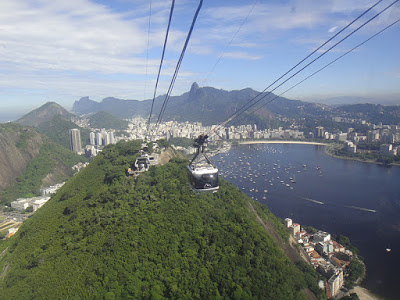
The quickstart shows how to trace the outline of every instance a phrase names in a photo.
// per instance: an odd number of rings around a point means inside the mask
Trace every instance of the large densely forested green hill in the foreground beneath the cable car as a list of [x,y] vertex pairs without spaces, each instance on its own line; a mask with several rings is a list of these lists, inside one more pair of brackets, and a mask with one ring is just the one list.
[[107,146],[0,244],[0,298],[305,299],[264,206],[224,180],[194,194],[182,160],[126,178],[139,149]]

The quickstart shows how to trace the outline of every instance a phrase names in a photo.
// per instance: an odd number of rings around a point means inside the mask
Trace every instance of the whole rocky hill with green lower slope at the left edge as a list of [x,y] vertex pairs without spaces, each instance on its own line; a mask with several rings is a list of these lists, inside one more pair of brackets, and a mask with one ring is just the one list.
[[32,127],[0,124],[0,202],[35,195],[41,186],[65,181],[86,159],[53,143]]

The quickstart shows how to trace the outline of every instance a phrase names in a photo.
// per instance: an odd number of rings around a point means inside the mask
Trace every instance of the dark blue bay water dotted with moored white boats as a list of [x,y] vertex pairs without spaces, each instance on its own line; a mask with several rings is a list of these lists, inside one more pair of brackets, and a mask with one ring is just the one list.
[[399,299],[399,167],[336,159],[323,146],[294,144],[241,145],[214,160],[222,177],[278,217],[350,237],[367,265],[362,285]]

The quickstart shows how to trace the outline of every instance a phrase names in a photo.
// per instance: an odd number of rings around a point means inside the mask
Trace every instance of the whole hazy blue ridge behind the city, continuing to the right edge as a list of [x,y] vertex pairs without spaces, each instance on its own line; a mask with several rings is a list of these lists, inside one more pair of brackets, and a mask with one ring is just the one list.
[[[384,106],[380,104],[349,104],[332,107],[322,103],[290,100],[277,97],[273,93],[259,92],[246,88],[226,91],[213,87],[199,87],[193,83],[189,92],[173,96],[168,102],[163,120],[202,122],[204,125],[218,124],[240,110],[248,103],[257,102],[235,120],[233,125],[257,124],[259,128],[277,125],[278,117],[295,120],[321,120],[333,117],[364,119],[368,122],[384,124],[400,123],[400,106]],[[157,118],[165,96],[155,99],[153,120]],[[262,98],[261,101],[259,101]],[[252,101],[255,99],[254,101]],[[372,99],[372,98],[365,98]],[[272,101],[273,100],[273,101]],[[264,105],[268,103],[268,105]],[[120,118],[145,117],[150,113],[151,100],[122,100],[113,97],[96,102],[89,97],[75,101],[73,111],[78,115],[93,114],[98,111],[109,112]],[[360,109],[360,111],[357,111]],[[281,125],[279,125],[281,126]],[[317,126],[317,125],[316,125]]]

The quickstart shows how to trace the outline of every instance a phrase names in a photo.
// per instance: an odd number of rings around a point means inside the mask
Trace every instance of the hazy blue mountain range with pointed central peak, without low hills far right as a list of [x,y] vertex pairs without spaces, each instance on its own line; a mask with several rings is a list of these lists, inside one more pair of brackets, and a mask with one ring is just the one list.
[[[163,120],[199,121],[205,125],[217,124],[226,120],[258,94],[259,92],[250,88],[225,91],[213,87],[200,88],[197,83],[193,83],[189,92],[169,99]],[[272,93],[268,95],[264,93],[262,96],[265,96],[265,99],[255,105],[252,110],[257,109],[261,103],[266,103],[276,97]],[[159,96],[155,99],[153,119],[157,118],[164,98],[165,96]],[[73,111],[76,114],[83,115],[101,110],[120,118],[131,118],[135,116],[148,117],[150,107],[151,100],[105,98],[99,103],[84,97],[75,101]],[[296,118],[304,118],[309,114],[326,115],[329,110],[329,107],[321,104],[277,97],[266,108],[257,109],[255,114],[251,116],[245,114],[245,120],[241,123],[265,124],[266,121],[277,115]]]

